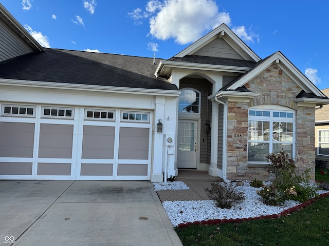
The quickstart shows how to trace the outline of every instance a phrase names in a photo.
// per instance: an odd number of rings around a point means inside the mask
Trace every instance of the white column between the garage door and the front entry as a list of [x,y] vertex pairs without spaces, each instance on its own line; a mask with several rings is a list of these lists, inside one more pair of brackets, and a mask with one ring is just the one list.
[[163,181],[163,132],[157,132],[158,120],[162,120],[162,124],[165,118],[165,103],[166,98],[164,96],[155,97],[155,111],[154,111],[154,137],[153,137],[153,160],[151,168],[151,182],[162,182]]

